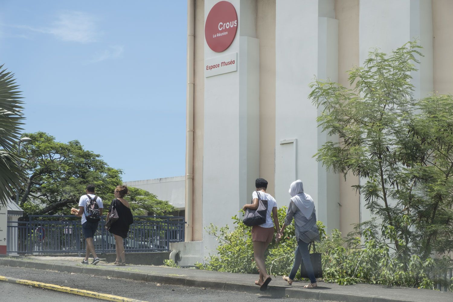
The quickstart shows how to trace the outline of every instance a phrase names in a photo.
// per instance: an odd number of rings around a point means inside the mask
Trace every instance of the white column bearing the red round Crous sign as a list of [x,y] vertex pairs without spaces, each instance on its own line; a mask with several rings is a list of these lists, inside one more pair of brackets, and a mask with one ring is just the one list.
[[[205,18],[217,0],[205,0]],[[205,60],[237,53],[237,71],[204,81],[203,227],[232,226],[231,216],[250,202],[259,176],[259,40],[256,1],[230,1],[238,16],[236,38],[222,53],[204,45]],[[215,238],[203,233],[204,255]]]

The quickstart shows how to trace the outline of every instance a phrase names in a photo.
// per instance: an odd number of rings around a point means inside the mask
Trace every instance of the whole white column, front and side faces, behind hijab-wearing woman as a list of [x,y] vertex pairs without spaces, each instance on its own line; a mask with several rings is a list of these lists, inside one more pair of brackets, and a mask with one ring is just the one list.
[[287,206],[290,183],[301,179],[315,202],[318,220],[328,229],[339,223],[339,184],[338,177],[313,158],[330,138],[317,128],[318,110],[308,99],[308,85],[315,76],[337,80],[338,23],[334,15],[331,0],[276,2],[275,197],[279,206]]

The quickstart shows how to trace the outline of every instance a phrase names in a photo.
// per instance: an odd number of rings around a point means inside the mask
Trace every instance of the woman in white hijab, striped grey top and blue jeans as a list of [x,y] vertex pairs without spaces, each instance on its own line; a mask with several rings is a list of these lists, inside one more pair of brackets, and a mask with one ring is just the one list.
[[319,241],[319,230],[316,225],[316,211],[314,209],[313,199],[304,192],[304,185],[301,180],[291,183],[289,195],[291,195],[291,199],[280,232],[283,233],[285,227],[290,225],[294,218],[294,229],[298,246],[295,252],[293,269],[289,276],[283,276],[283,279],[291,285],[303,260],[307,269],[308,278],[310,279],[310,284],[305,285],[304,288],[316,288],[318,285],[316,284],[310,253],[308,251],[308,244],[310,242],[314,240]]

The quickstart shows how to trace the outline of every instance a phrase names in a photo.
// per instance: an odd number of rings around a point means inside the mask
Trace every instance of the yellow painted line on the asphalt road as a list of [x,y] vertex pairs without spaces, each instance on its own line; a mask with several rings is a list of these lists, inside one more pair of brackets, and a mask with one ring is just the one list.
[[91,292],[91,291],[86,291],[86,290],[78,289],[78,288],[68,288],[66,286],[59,286],[59,285],[55,285],[55,284],[48,284],[48,283],[42,283],[42,282],[36,282],[36,281],[30,281],[30,280],[9,278],[9,277],[4,277],[4,276],[0,276],[0,281],[5,281],[8,283],[15,283],[15,284],[29,285],[29,286],[33,286],[35,288],[46,288],[46,289],[50,289],[50,290],[54,290],[54,291],[58,291],[58,292],[72,293],[74,295],[92,297],[92,298],[97,298],[97,299],[102,299],[102,300],[107,300],[107,301],[145,302],[145,301],[141,301],[141,300],[135,300],[135,299],[125,298],[125,297],[120,297],[120,296],[115,296],[115,295],[109,295],[109,294],[100,293],[100,292]]

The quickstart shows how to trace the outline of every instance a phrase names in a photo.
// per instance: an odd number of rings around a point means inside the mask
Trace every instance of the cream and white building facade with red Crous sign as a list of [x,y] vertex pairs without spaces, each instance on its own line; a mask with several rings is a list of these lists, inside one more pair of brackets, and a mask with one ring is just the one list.
[[[301,179],[318,220],[347,234],[370,213],[351,187],[357,177],[345,181],[313,158],[332,138],[317,127],[308,84],[317,77],[348,86],[346,71],[373,48],[390,53],[418,38],[424,57],[412,74],[414,97],[452,92],[453,1],[226,1],[237,19],[214,14],[219,2],[225,1],[188,0],[184,250],[212,252],[216,243],[205,227],[231,225],[250,202],[256,177],[269,181],[279,206],[288,205],[289,184]],[[208,44],[216,41],[207,36],[210,13],[220,20],[217,38],[231,36],[224,24],[237,20],[231,44],[220,52]],[[234,66],[222,67],[225,60]]]

